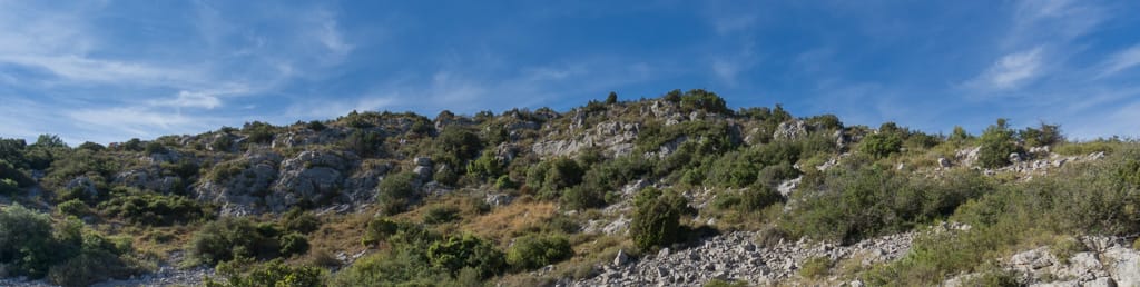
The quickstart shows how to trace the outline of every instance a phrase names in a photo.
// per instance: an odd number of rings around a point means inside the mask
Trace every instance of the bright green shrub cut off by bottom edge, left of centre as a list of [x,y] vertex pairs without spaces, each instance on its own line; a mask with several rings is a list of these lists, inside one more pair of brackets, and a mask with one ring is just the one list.
[[310,287],[326,286],[325,271],[315,266],[291,266],[280,259],[255,263],[244,259],[218,266],[225,281],[206,279],[207,287]]

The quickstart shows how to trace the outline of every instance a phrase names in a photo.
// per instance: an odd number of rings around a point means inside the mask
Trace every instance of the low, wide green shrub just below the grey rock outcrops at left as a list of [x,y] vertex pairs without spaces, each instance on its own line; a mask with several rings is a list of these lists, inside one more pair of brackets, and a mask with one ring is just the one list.
[[170,226],[213,218],[213,207],[178,195],[135,191],[98,205],[104,214],[135,224]]

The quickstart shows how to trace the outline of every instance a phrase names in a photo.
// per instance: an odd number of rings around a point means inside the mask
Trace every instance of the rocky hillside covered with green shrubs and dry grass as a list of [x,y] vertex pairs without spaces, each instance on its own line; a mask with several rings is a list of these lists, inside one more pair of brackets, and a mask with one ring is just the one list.
[[1140,284],[1135,141],[899,124],[675,90],[0,139],[0,285]]

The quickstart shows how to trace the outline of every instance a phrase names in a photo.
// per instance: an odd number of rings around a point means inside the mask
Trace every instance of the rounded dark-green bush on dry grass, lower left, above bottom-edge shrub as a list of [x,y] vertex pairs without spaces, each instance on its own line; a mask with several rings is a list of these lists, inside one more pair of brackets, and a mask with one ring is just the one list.
[[195,232],[187,249],[196,261],[206,264],[241,256],[270,259],[277,256],[280,249],[277,232],[259,228],[247,218],[221,218]]

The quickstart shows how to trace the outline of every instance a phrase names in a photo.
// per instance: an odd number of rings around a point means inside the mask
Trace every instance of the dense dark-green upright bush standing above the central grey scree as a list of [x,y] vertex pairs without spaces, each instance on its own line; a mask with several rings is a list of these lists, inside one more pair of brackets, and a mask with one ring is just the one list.
[[629,224],[629,236],[637,248],[649,251],[683,238],[681,215],[691,207],[676,191],[642,189],[634,197],[634,206],[636,210]]

